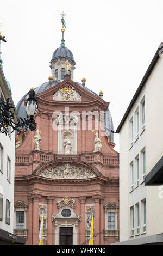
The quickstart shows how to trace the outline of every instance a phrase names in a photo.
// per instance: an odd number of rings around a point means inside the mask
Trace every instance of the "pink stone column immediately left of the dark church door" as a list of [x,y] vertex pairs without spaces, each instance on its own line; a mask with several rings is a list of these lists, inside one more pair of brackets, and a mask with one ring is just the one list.
[[48,214],[47,214],[47,245],[53,245],[53,229],[52,229],[52,207],[54,197],[47,197]]

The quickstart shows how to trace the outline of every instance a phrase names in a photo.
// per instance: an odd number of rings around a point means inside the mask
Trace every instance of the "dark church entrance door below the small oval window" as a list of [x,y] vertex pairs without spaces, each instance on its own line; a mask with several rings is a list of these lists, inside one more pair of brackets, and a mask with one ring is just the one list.
[[72,245],[72,227],[60,227],[59,229],[59,245]]

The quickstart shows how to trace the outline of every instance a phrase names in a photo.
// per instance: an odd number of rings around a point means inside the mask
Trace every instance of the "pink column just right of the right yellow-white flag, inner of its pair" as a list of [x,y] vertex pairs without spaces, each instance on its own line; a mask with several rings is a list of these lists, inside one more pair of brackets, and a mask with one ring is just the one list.
[[[95,210],[94,210],[94,216],[95,216],[95,229],[94,229],[94,234],[96,235],[97,233],[99,233],[101,230],[100,230],[100,205],[99,205],[99,202],[100,202],[100,199],[101,199],[101,196],[92,196],[92,199],[94,200],[95,202]],[[93,239],[93,245],[100,245],[100,242],[99,242],[99,234]]]

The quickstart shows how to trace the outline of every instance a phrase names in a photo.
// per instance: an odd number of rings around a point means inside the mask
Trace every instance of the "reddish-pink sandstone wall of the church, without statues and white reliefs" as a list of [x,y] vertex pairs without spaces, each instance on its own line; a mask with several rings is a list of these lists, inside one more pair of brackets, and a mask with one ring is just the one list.
[[[82,95],[82,102],[61,102],[53,101],[53,94],[56,90],[63,87],[66,83],[72,86]],[[77,222],[77,243],[82,245],[87,239],[85,205],[92,205],[95,210],[95,245],[109,245],[117,242],[115,235],[104,236],[105,229],[105,208],[104,205],[109,202],[115,202],[117,205],[119,197],[118,184],[118,153],[108,144],[108,138],[101,136],[101,130],[98,131],[99,138],[103,145],[100,152],[93,153],[95,119],[92,122],[91,130],[82,130],[82,119],[80,120],[80,130],[77,134],[77,154],[76,155],[58,155],[58,132],[52,128],[55,118],[54,111],[64,113],[65,106],[69,111],[74,110],[82,115],[82,111],[104,111],[109,103],[104,102],[99,97],[92,95],[86,90],[74,84],[71,80],[66,80],[46,92],[37,95],[39,110],[36,117],[38,129],[41,131],[41,151],[34,151],[33,132],[29,131],[26,139],[16,148],[15,154],[15,202],[22,200],[28,204],[27,208],[27,226],[28,231],[26,244],[39,244],[39,208],[45,205],[47,210],[47,235],[43,240],[44,245],[55,244],[55,225],[65,223],[75,224],[77,220],[57,220],[52,221],[52,213],[58,214],[57,199],[68,196],[76,199],[75,214],[82,215],[82,221]],[[86,118],[86,127],[88,129],[88,118]],[[63,130],[64,131],[64,130]],[[78,167],[87,164],[87,166],[96,173],[95,179],[87,180],[52,180],[39,176],[42,164],[63,164],[76,163]],[[72,164],[71,163],[71,164]],[[37,169],[36,169],[37,168]],[[117,215],[119,216],[119,215]],[[119,229],[119,224],[117,230]],[[86,243],[87,244],[87,243]]]

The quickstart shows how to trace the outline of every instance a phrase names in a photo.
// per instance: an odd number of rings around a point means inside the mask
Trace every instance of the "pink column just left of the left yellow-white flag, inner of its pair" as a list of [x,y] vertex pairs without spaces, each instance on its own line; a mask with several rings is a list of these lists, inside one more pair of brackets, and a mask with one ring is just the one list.
[[33,212],[32,212],[32,232],[33,232],[33,245],[39,245],[39,201],[40,194],[33,194]]

